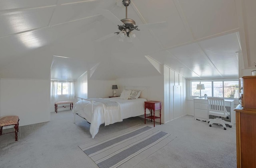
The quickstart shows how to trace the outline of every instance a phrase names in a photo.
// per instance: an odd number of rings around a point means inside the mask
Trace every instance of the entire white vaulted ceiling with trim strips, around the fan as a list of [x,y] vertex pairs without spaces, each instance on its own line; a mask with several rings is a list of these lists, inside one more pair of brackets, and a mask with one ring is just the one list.
[[[92,79],[159,75],[150,61],[186,78],[237,78],[256,62],[255,0],[131,0],[133,42],[120,42],[117,25],[101,15],[125,18],[122,0],[0,1],[0,77]],[[56,57],[58,56],[58,57]],[[150,59],[150,61],[149,61]]]

